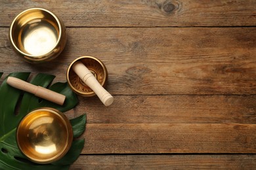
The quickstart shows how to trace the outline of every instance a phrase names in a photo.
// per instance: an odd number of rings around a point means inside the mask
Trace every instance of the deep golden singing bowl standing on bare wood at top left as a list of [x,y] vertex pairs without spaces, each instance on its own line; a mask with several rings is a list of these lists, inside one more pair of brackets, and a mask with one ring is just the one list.
[[12,21],[9,39],[14,51],[30,63],[56,58],[66,45],[66,27],[53,12],[33,8]]

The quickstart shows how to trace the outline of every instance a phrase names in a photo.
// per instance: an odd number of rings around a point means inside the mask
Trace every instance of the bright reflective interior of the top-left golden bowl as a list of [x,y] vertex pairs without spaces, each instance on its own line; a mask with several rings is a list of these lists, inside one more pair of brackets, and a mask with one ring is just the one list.
[[54,49],[60,24],[48,10],[30,9],[18,14],[11,25],[14,47],[30,56],[42,56]]

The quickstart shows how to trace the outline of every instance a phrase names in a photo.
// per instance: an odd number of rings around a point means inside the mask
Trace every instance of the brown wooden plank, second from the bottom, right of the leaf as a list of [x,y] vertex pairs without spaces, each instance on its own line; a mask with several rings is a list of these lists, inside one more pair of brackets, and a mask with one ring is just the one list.
[[255,154],[255,130],[255,124],[87,124],[81,154]]

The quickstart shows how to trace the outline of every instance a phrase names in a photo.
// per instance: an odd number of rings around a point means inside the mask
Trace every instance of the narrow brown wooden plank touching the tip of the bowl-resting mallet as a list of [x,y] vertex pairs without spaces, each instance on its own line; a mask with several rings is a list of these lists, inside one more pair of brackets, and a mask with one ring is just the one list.
[[256,95],[115,95],[105,107],[97,97],[79,97],[69,116],[87,114],[89,124],[255,124]]

